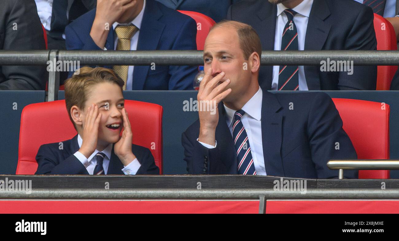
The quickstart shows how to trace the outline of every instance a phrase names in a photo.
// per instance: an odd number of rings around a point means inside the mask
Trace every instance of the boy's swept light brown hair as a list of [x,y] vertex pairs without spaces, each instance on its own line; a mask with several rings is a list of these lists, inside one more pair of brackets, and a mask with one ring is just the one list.
[[83,110],[87,96],[89,96],[90,90],[95,84],[114,83],[120,86],[121,91],[124,85],[124,81],[112,69],[85,66],[77,72],[79,74],[73,74],[71,78],[65,80],[64,84],[65,105],[67,106],[69,119],[71,119],[75,129],[76,125],[71,117],[71,108],[72,106],[77,106],[80,110]]

